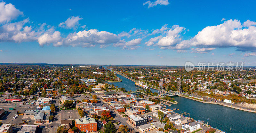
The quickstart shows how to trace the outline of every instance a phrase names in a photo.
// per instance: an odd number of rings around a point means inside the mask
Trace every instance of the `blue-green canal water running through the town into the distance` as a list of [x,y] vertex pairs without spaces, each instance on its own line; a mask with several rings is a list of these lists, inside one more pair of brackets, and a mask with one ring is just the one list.
[[[106,66],[104,68],[106,68]],[[113,83],[115,86],[123,87],[127,91],[141,90],[141,88],[134,85],[133,81],[119,74],[117,76],[122,79],[122,82]],[[155,92],[157,90],[151,89],[151,91]],[[174,98],[178,104],[172,104],[171,107],[168,107],[169,109],[177,108],[179,109],[179,113],[190,113],[191,118],[195,120],[203,120],[206,124],[208,118],[208,125],[213,128],[220,129],[227,133],[256,133],[256,113],[241,111],[216,104],[201,103],[179,96],[174,96],[172,98]],[[177,113],[178,111],[175,112]]]

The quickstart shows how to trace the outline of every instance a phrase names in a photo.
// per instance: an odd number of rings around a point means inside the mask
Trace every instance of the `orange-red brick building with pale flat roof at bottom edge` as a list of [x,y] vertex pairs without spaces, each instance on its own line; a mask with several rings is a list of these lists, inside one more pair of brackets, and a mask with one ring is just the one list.
[[84,132],[96,132],[97,131],[97,122],[94,118],[82,118],[75,119],[75,126]]

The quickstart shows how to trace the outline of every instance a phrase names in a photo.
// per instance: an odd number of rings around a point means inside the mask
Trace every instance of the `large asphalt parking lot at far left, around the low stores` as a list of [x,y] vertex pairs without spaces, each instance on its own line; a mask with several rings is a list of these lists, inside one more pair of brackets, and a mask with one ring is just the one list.
[[[16,104],[16,107],[15,107]],[[20,105],[20,103],[4,103],[0,105],[0,108],[7,111],[7,113],[0,119],[3,123],[13,123],[13,124],[19,124],[23,121],[23,115],[17,116],[16,119],[13,117],[15,114],[17,114],[17,111],[20,111],[20,113],[23,113],[25,110],[34,110],[36,109],[36,106],[26,106],[26,105]],[[14,110],[9,110],[9,108],[13,108]],[[33,124],[34,120],[32,119],[26,119],[29,124]]]

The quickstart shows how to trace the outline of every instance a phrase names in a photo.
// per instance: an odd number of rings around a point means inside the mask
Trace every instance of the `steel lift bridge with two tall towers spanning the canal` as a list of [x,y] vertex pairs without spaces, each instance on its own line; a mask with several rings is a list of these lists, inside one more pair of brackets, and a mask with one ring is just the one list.
[[178,86],[178,91],[172,91],[169,90],[168,92],[164,92],[164,80],[161,79],[159,83],[159,90],[158,90],[158,97],[165,97],[165,96],[178,96],[182,93],[181,90],[181,84],[180,84],[180,78],[177,80],[177,86]]

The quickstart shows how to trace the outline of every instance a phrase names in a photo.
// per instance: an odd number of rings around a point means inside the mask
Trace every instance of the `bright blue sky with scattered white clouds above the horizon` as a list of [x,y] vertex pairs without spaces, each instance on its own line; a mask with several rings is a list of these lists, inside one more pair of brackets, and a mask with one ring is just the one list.
[[255,5],[205,0],[1,1],[0,62],[256,66]]

